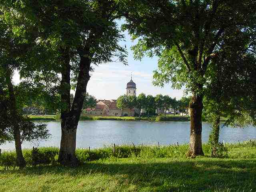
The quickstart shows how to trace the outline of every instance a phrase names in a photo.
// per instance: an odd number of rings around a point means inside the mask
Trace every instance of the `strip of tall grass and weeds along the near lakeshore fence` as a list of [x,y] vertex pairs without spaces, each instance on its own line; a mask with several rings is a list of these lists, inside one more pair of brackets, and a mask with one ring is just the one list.
[[[242,158],[250,159],[256,158],[256,141],[242,142],[240,144],[226,144],[228,148],[229,158]],[[92,160],[99,160],[105,158],[170,158],[179,159],[186,158],[188,144],[182,145],[168,145],[168,146],[108,146],[98,149],[84,149],[79,148],[76,150],[76,156],[80,162],[88,162]],[[210,145],[203,144],[203,151],[206,156],[210,156]],[[24,158],[27,165],[37,164],[56,164],[58,159],[59,149],[56,147],[42,147],[35,150],[23,150]],[[0,166],[15,167],[16,166],[16,153],[14,151],[3,152],[0,155]]]

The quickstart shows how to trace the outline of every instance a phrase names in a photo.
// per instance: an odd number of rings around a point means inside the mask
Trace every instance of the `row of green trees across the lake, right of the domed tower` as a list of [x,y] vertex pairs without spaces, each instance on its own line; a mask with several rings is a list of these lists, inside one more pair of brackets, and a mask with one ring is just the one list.
[[176,111],[188,113],[188,107],[191,97],[182,97],[180,100],[176,100],[176,98],[171,98],[168,95],[162,96],[162,94],[158,94],[155,97],[152,95],[146,96],[144,93],[141,93],[136,96],[127,96],[122,95],[118,97],[116,101],[116,106],[122,109],[122,115],[124,108],[130,109],[130,116],[132,114],[132,109],[137,108],[138,114],[134,113],[134,115],[140,116],[140,112],[143,109],[147,116],[159,114],[160,111],[166,112],[170,109],[173,110],[173,115],[175,116]]

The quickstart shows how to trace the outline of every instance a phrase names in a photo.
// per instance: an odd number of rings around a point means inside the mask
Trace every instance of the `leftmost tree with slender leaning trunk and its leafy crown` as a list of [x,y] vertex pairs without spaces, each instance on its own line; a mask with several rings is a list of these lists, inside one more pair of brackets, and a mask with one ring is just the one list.
[[[4,108],[1,108],[3,112],[0,126],[4,138],[0,140],[14,140],[17,165],[22,168],[26,162],[22,154],[21,132],[26,132],[27,135],[33,134],[37,126],[28,122],[21,113],[23,102],[20,96],[26,92],[24,88],[28,88],[28,86],[20,86],[24,84],[15,86],[12,76],[14,70],[22,70],[30,74],[30,70],[26,70],[26,64],[31,60],[34,61],[30,54],[37,51],[37,49],[33,49],[37,32],[35,26],[30,25],[30,21],[23,14],[17,12],[15,4],[12,3],[5,1],[0,5],[0,72],[3,80],[0,92],[4,94],[1,97],[1,102],[8,102],[3,104]],[[35,64],[34,68],[38,69],[38,64]]]

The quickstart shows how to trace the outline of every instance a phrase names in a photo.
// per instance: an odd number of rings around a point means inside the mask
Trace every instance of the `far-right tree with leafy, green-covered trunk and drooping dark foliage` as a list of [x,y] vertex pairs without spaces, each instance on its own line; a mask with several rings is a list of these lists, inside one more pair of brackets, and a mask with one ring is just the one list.
[[[237,45],[238,42],[237,37],[230,40],[230,44]],[[244,44],[247,44],[246,41]],[[226,125],[231,126],[254,124],[256,120],[255,116],[250,116],[250,112],[255,110],[253,104],[256,101],[254,97],[256,93],[254,84],[256,82],[254,75],[256,73],[256,56],[244,47],[241,46],[241,50],[235,50],[235,52],[232,48],[226,48],[211,63],[212,75],[209,76],[209,86],[207,86],[208,89],[204,97],[204,112],[207,120],[212,123],[212,131],[209,135],[212,157],[223,155],[220,150],[222,145],[219,144],[221,116],[226,117]],[[233,56],[233,54],[235,55]],[[221,68],[220,63],[224,64]],[[227,76],[231,78],[226,78]],[[248,101],[250,107],[248,107]]]

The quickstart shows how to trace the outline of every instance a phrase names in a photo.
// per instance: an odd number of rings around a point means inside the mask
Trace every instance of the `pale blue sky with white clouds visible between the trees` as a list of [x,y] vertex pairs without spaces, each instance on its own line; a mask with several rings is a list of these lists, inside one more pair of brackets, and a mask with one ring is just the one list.
[[[121,26],[123,22],[123,20],[118,21],[118,26]],[[132,42],[131,36],[127,31],[124,32],[124,36],[125,38],[120,42],[120,45],[126,45],[128,65],[125,66],[120,62],[112,62],[92,66],[94,72],[90,74],[91,78],[87,85],[87,92],[101,100],[117,99],[126,93],[126,84],[130,81],[132,73],[132,80],[136,83],[137,96],[140,93],[146,95],[151,94],[153,96],[156,94],[169,95],[177,99],[184,96],[183,90],[173,90],[170,84],[167,84],[163,88],[153,86],[153,70],[157,69],[158,58],[145,57],[141,61],[134,60],[130,47],[135,45],[136,42]],[[15,84],[20,81],[18,72],[15,72],[13,80]]]

